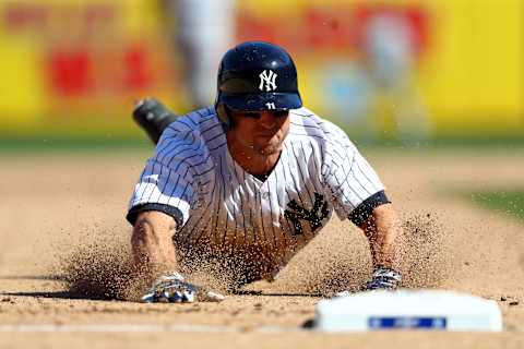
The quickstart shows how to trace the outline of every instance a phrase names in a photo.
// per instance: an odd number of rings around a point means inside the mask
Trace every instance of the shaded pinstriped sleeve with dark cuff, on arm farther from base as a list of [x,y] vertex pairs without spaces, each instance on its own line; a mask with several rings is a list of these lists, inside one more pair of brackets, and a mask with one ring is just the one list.
[[184,161],[160,161],[158,157],[147,164],[134,186],[127,219],[134,225],[139,213],[159,210],[175,218],[182,227],[195,201],[191,167]]

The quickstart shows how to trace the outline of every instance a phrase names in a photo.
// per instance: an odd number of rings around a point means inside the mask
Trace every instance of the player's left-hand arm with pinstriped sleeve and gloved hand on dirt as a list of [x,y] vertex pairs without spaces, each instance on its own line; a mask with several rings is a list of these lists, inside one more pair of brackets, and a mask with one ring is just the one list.
[[184,163],[168,167],[155,156],[147,160],[135,185],[126,218],[133,226],[131,248],[138,276],[151,285],[144,289],[144,302],[224,299],[222,294],[187,282],[177,263],[174,236],[189,219],[195,200],[189,169]]

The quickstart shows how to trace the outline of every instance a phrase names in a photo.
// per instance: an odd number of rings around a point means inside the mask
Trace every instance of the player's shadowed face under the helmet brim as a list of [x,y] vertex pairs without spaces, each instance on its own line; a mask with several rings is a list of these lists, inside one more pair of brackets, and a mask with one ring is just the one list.
[[233,111],[235,139],[260,155],[279,154],[289,132],[289,112]]

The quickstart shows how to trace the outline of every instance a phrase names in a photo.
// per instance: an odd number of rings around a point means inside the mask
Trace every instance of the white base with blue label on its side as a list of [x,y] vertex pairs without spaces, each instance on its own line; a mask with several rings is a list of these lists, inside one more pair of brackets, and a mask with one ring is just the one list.
[[322,300],[315,328],[326,332],[385,329],[502,330],[497,302],[441,290],[366,291]]

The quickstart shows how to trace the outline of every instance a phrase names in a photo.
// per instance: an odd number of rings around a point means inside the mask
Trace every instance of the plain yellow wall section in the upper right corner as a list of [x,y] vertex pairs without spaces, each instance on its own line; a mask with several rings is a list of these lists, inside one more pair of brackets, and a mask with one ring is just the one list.
[[524,2],[441,1],[420,87],[439,132],[524,131]]

